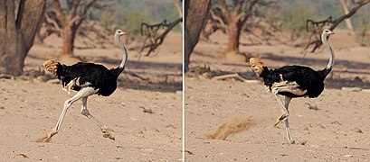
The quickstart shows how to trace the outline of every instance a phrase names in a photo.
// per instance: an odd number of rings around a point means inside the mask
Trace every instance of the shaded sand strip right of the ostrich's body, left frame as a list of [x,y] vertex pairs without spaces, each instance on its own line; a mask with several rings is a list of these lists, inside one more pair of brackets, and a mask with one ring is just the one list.
[[[96,62],[119,65],[119,59],[96,58]],[[145,91],[176,93],[182,91],[182,65],[128,60],[125,71],[119,76],[119,87]]]

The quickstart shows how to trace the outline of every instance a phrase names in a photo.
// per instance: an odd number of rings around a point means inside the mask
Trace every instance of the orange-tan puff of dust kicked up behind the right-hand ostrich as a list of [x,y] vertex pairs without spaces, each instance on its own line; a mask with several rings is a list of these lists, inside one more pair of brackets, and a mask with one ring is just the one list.
[[216,132],[207,135],[207,139],[226,139],[229,135],[247,130],[251,126],[251,117],[243,119],[235,118],[223,123]]

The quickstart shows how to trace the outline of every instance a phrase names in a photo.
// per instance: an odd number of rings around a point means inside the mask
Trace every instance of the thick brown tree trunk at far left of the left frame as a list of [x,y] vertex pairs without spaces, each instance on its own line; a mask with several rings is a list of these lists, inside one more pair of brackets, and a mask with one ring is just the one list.
[[23,73],[24,58],[33,46],[45,4],[46,0],[1,1],[0,73],[14,76]]

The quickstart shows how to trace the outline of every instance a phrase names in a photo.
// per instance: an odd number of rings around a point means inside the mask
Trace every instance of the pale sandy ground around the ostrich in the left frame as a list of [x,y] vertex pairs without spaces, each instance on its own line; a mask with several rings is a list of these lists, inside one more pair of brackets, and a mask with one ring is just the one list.
[[[129,50],[128,67],[116,92],[90,96],[90,113],[114,130],[115,140],[103,138],[99,128],[81,115],[78,101],[49,143],[35,142],[52,130],[64,101],[72,96],[62,92],[60,84],[33,77],[34,70],[43,70],[44,60],[57,58],[61,42],[51,37],[43,46],[35,45],[25,60],[26,75],[0,79],[0,161],[182,159],[181,34],[169,35],[156,55],[140,58],[136,50]],[[116,47],[91,49],[81,42],[75,55],[106,67],[117,67],[121,59]]]

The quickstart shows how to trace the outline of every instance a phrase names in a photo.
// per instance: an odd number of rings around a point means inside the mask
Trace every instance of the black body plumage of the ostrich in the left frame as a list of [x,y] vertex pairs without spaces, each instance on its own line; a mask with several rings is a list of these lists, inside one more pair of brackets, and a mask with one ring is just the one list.
[[72,89],[80,91],[81,85],[90,83],[90,87],[99,89],[98,94],[109,96],[117,88],[117,78],[124,70],[124,67],[108,69],[99,64],[94,63],[76,63],[72,66],[66,66],[58,62],[56,76],[62,80],[62,85],[65,86],[71,80],[79,78],[79,85],[73,85]]

